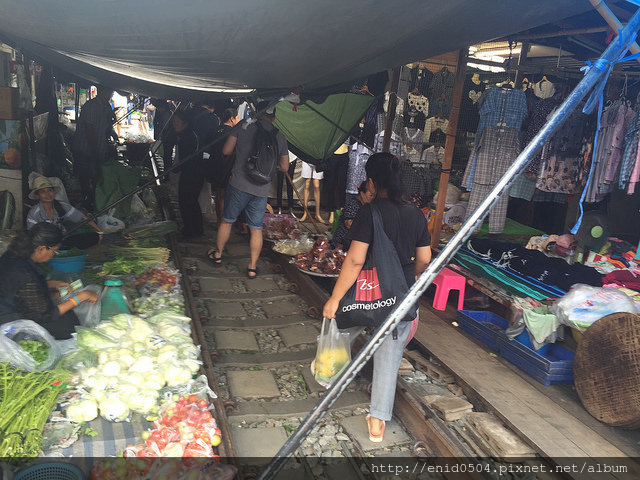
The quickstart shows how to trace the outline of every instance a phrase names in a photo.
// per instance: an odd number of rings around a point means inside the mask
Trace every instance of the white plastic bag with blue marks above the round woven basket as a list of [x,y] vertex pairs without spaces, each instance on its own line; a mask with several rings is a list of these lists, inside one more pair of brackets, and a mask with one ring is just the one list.
[[631,297],[615,288],[576,284],[553,304],[560,323],[584,332],[596,320],[611,313],[638,313]]

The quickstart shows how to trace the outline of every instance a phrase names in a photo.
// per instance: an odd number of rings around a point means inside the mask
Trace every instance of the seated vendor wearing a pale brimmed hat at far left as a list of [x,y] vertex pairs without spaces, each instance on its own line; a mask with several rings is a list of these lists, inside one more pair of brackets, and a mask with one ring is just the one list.
[[[31,207],[27,215],[27,229],[31,229],[40,222],[48,222],[60,227],[62,232],[66,232],[65,222],[79,223],[87,219],[87,217],[72,205],[55,199],[59,188],[54,187],[47,177],[36,177],[32,182],[32,190],[29,198],[32,200],[40,200],[36,205]],[[62,250],[68,250],[73,247],[88,248],[100,242],[102,230],[95,222],[88,222],[88,225],[95,232],[77,233],[69,235],[64,239]]]

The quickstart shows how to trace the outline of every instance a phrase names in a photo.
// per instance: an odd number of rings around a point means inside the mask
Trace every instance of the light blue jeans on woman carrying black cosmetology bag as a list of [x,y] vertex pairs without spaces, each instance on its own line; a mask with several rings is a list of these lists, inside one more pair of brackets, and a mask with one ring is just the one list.
[[[371,405],[369,413],[372,417],[388,422],[393,415],[393,400],[396,396],[396,381],[398,370],[402,363],[402,354],[411,322],[400,322],[396,327],[398,338],[393,339],[393,332],[387,336],[382,345],[373,355],[373,381],[371,383]],[[353,327],[342,332],[349,333],[349,340],[353,345],[362,333],[362,327]]]

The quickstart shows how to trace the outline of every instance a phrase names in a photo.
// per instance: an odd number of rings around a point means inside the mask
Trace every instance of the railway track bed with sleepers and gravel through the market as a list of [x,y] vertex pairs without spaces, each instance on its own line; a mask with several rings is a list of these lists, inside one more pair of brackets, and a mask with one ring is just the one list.
[[[204,372],[218,395],[220,455],[239,468],[238,478],[256,478],[324,395],[309,365],[330,283],[317,283],[266,248],[259,278],[247,280],[248,246],[242,237],[232,240],[223,266],[206,261],[205,243],[173,247],[194,336],[202,345]],[[493,478],[487,470],[501,465],[491,460],[495,452],[471,439],[464,420],[443,420],[442,412],[425,400],[438,394],[459,397],[446,383],[430,378],[424,367],[428,358],[416,361],[416,355],[421,356],[419,350],[410,352],[401,367],[395,416],[383,443],[369,441],[364,421],[369,366],[311,430],[283,467],[282,478]],[[445,464],[457,458],[471,467],[455,475],[425,467],[440,465],[445,472]]]

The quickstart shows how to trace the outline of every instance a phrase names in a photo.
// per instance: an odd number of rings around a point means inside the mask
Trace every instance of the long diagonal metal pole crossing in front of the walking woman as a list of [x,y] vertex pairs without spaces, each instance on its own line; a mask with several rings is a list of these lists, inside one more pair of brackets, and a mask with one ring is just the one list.
[[[608,62],[616,61],[621,53],[620,45],[627,45],[630,35],[638,30],[639,26],[640,10],[634,14],[625,29],[622,31],[620,35],[622,39],[617,39],[617,41],[611,42],[600,58]],[[320,419],[322,419],[327,410],[331,408],[340,394],[347,388],[347,385],[355,379],[358,372],[364,367],[364,364],[369,361],[380,344],[409,312],[411,306],[420,299],[422,293],[424,293],[427,287],[431,285],[431,282],[435,279],[438,273],[440,273],[440,270],[449,263],[460,246],[471,236],[475,229],[482,224],[484,217],[489,213],[500,196],[511,187],[516,177],[524,171],[536,152],[542,148],[542,145],[554,134],[556,130],[558,130],[558,128],[560,128],[567,116],[575,110],[579,102],[587,96],[597,82],[604,78],[605,74],[606,69],[602,70],[599,68],[591,68],[587,72],[585,77],[580,81],[562,105],[560,105],[547,124],[538,132],[531,143],[527,145],[520,155],[518,155],[518,158],[516,158],[513,165],[507,170],[498,183],[496,183],[491,192],[489,192],[487,197],[480,203],[477,210],[473,212],[469,219],[462,224],[458,233],[456,233],[451,241],[442,249],[440,254],[433,260],[433,262],[431,262],[423,274],[420,275],[416,283],[414,283],[409,289],[409,292],[402,302],[398,304],[398,306],[385,320],[384,324],[376,330],[374,335],[356,355],[351,364],[331,385],[331,387],[329,387],[325,396],[322,397],[315,407],[313,407],[311,412],[309,412],[296,431],[293,432],[282,448],[280,448],[276,456],[265,467],[260,474],[260,477],[258,477],[259,480],[271,480],[275,477],[278,471],[284,466],[287,458],[296,451],[311,429],[320,421]]]

